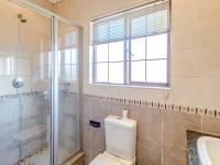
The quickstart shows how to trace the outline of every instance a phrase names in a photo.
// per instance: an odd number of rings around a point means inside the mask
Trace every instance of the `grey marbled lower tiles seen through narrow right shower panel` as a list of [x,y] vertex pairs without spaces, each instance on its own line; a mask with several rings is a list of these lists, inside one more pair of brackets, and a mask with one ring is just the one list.
[[80,150],[79,96],[64,91],[59,97],[59,146],[72,156]]

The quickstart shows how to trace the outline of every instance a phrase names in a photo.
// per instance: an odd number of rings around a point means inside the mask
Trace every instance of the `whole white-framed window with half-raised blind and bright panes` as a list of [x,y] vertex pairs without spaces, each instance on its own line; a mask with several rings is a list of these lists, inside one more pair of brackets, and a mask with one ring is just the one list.
[[169,2],[91,21],[92,84],[168,86]]

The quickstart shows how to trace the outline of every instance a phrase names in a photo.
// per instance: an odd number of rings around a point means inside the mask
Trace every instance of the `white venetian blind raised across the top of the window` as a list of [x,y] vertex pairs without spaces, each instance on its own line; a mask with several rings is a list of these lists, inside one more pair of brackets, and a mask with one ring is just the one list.
[[135,8],[120,15],[92,22],[91,44],[156,35],[168,31],[168,1]]

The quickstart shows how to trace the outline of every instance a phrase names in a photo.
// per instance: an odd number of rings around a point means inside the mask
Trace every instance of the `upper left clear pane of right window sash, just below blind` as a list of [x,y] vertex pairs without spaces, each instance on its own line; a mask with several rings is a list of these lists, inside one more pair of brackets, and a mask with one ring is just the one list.
[[138,59],[145,59],[146,54],[146,38],[134,38],[131,41],[131,59],[138,61]]

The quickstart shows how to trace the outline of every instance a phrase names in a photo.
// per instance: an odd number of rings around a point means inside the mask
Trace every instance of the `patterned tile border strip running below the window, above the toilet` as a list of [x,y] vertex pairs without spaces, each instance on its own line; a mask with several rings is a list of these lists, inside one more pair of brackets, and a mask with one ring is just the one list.
[[215,117],[215,118],[220,119],[220,110],[211,110],[211,109],[187,107],[187,106],[179,106],[179,105],[172,105],[172,103],[161,103],[161,102],[153,102],[153,101],[143,101],[143,100],[135,100],[135,99],[132,100],[132,99],[123,99],[123,98],[103,97],[103,96],[96,96],[96,95],[82,95],[82,98],[91,98],[91,99],[96,99],[100,101],[108,101],[108,102],[123,103],[123,105],[131,105],[131,106],[145,106],[153,109],[172,110],[176,112],[208,116],[208,117]]

